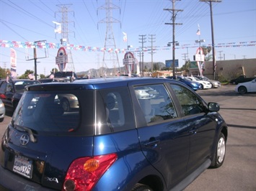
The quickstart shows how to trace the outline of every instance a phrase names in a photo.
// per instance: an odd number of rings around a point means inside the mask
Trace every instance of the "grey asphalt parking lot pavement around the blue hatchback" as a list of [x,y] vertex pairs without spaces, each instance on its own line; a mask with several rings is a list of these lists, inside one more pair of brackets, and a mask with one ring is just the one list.
[[[234,85],[198,90],[206,101],[218,102],[229,126],[226,159],[219,169],[207,169],[188,190],[256,190],[256,93],[239,95]],[[12,114],[0,124],[0,136]]]

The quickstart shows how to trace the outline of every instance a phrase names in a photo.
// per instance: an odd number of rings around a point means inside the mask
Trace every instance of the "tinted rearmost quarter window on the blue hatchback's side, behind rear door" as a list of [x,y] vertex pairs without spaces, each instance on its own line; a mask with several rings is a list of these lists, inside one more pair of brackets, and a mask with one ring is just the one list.
[[135,122],[128,88],[97,91],[97,129],[95,134],[134,129]]

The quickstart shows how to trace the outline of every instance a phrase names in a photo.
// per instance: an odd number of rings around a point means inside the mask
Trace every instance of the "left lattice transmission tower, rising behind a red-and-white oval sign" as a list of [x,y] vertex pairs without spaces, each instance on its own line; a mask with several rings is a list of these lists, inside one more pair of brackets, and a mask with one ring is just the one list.
[[[69,6],[72,4],[59,4],[57,5],[59,7],[59,11],[57,13],[61,13],[61,45],[63,46],[63,43],[65,42],[67,45],[69,45],[69,33],[74,33],[73,31],[69,30],[69,12],[73,12],[74,16],[74,11],[69,10]],[[73,22],[74,23],[74,22]],[[74,67],[74,62],[73,62],[73,57],[72,57],[72,52],[70,49],[66,49],[66,54],[68,55],[68,62],[66,63],[66,68],[64,70],[66,71],[73,71],[75,72],[75,67]]]

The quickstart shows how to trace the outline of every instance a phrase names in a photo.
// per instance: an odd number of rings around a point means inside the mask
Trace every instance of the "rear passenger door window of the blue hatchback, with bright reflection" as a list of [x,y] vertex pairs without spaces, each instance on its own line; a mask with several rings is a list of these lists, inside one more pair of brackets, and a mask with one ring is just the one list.
[[177,118],[172,98],[163,84],[136,86],[134,90],[147,124]]

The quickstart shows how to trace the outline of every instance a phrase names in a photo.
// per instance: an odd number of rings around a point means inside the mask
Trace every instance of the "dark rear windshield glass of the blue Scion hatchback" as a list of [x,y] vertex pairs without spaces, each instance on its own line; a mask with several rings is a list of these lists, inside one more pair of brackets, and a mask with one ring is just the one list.
[[[93,100],[92,90],[87,93],[76,90],[25,91],[14,112],[12,124],[36,132],[76,134],[83,120],[87,126],[93,124]],[[92,128],[86,131],[93,134]]]

